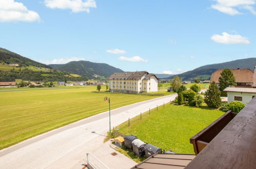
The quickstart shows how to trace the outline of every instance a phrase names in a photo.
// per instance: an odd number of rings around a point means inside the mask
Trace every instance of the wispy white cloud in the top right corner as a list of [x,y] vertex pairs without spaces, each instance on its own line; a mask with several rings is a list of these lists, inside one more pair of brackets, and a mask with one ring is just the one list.
[[253,6],[256,0],[214,0],[217,3],[212,5],[211,8],[216,9],[220,12],[229,14],[229,15],[237,15],[242,14],[242,12],[238,11],[235,8],[246,9],[250,11],[252,14],[256,15],[256,11]]

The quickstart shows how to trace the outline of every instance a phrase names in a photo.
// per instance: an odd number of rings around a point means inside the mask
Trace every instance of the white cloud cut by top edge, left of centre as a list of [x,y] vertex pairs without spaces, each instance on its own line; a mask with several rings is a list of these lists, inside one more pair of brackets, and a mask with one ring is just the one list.
[[72,12],[90,12],[90,8],[96,8],[94,0],[45,0],[45,5],[51,9],[71,9]]

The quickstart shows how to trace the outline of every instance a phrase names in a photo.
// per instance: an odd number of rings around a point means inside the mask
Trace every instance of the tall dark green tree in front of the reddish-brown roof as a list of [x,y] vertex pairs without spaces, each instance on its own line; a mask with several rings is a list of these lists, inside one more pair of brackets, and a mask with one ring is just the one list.
[[229,86],[237,86],[234,75],[232,71],[229,69],[224,69],[221,72],[221,76],[219,77],[219,82],[220,82],[219,86],[221,91],[223,91]]

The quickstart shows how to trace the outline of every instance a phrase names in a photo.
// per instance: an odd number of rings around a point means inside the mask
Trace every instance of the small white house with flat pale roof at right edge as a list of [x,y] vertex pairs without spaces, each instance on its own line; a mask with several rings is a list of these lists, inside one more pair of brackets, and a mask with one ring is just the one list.
[[224,89],[228,95],[228,102],[231,101],[242,101],[248,104],[251,99],[256,95],[256,88],[236,88],[228,87]]

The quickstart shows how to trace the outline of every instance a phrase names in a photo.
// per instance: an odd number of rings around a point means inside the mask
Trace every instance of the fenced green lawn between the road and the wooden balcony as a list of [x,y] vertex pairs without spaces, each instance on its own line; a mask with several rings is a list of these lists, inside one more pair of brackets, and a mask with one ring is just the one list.
[[119,126],[124,134],[137,136],[144,142],[176,153],[194,154],[189,139],[200,132],[224,112],[207,107],[196,108],[187,105],[165,105],[130,119]]

